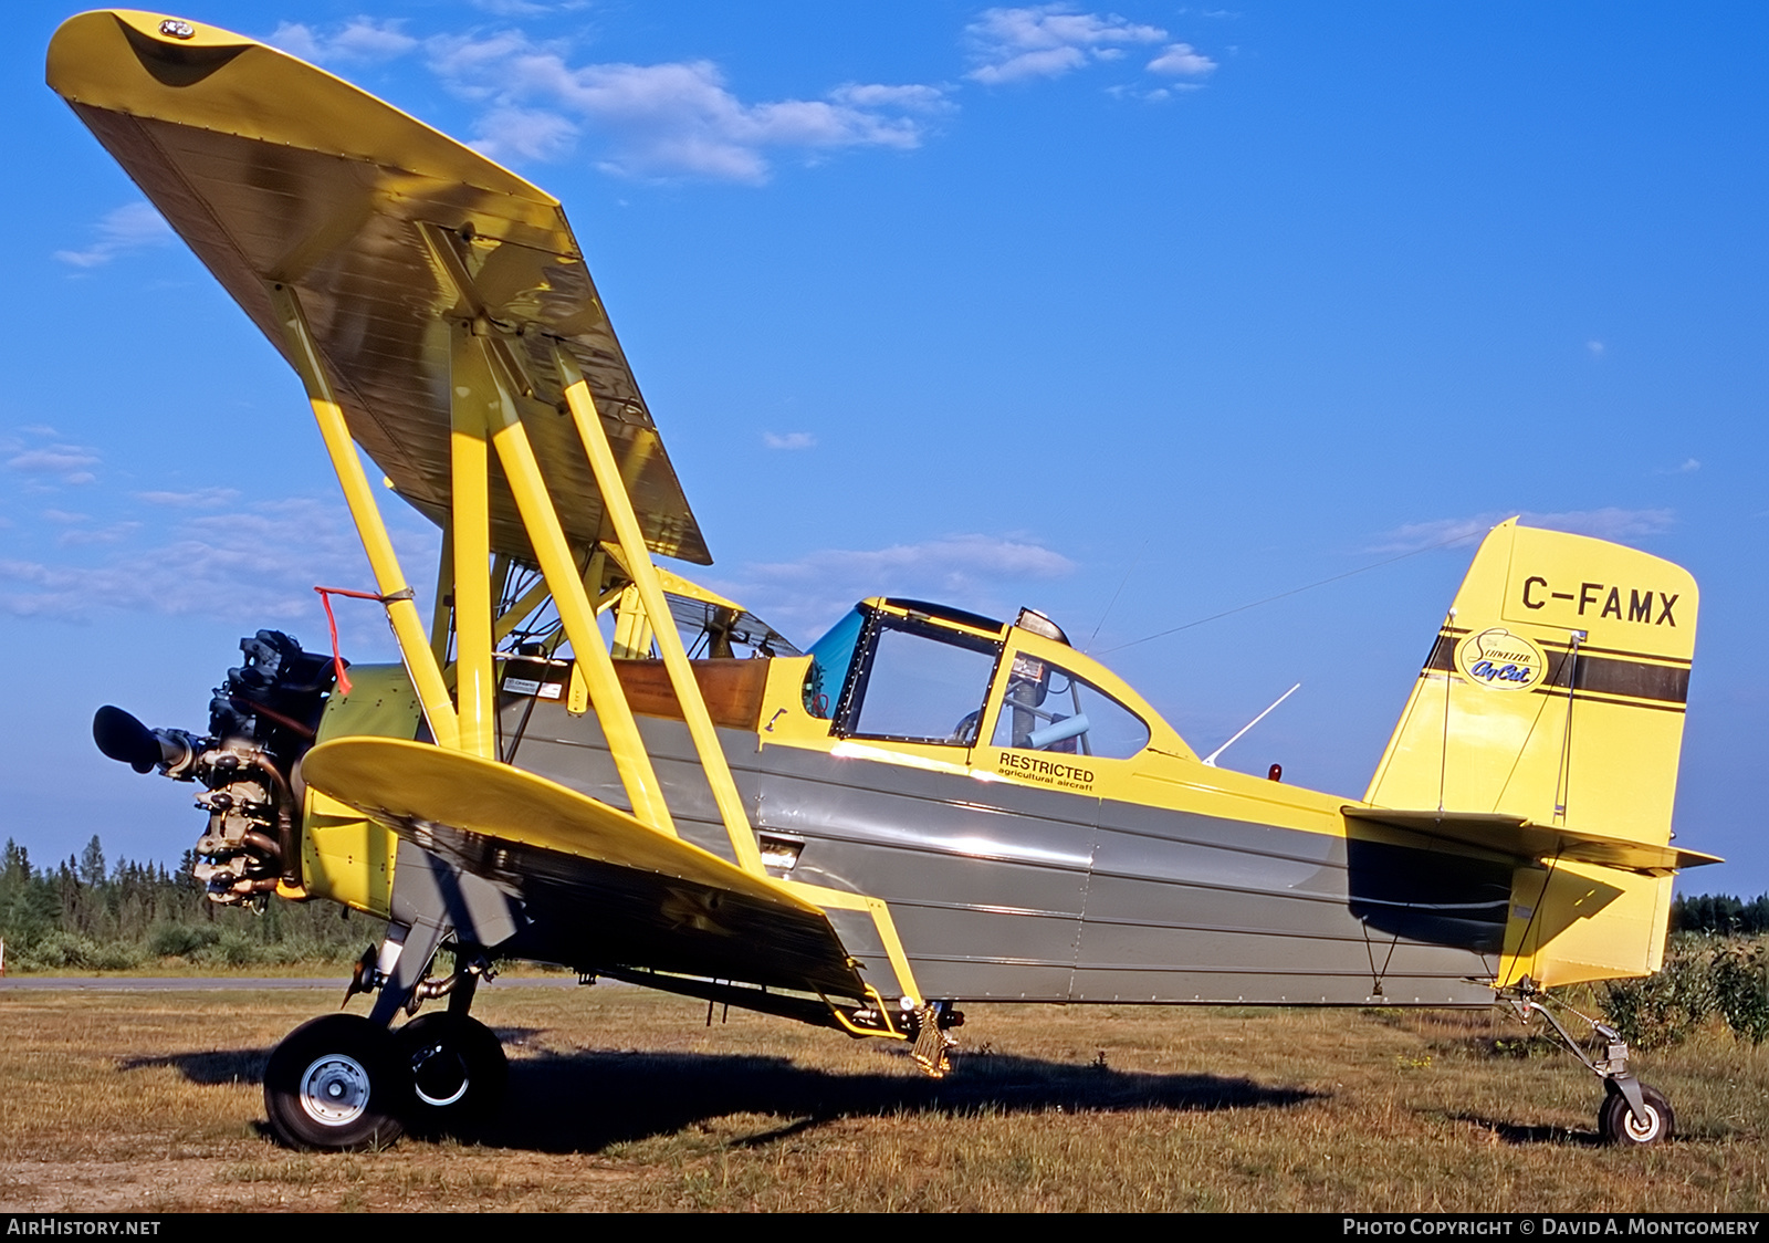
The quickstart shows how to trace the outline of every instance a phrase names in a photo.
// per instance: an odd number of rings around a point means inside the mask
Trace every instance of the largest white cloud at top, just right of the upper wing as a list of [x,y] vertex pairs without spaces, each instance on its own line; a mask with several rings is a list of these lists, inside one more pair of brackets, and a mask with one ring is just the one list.
[[950,106],[939,87],[883,83],[743,103],[709,60],[573,67],[520,32],[439,37],[426,50],[449,89],[488,104],[476,126],[488,156],[559,159],[589,135],[601,147],[598,166],[623,177],[755,184],[768,179],[773,152],[918,147],[925,117]]

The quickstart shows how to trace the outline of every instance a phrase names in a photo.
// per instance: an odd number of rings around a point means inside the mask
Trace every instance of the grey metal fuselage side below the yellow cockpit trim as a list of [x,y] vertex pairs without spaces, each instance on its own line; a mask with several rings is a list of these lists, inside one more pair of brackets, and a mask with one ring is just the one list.
[[[524,717],[527,717],[524,724]],[[502,706],[515,763],[619,804],[594,715]],[[686,730],[640,719],[685,839],[731,846]],[[720,730],[764,839],[794,880],[890,903],[929,997],[1040,1002],[1486,1006],[1509,868],[1467,857],[1433,885],[1429,850],[1359,843],[1088,795],[980,783]],[[1436,861],[1436,862],[1435,862]],[[570,864],[561,861],[561,873]],[[531,946],[575,958],[577,910],[524,885]],[[831,912],[849,953],[883,963],[869,919]],[[589,940],[594,937],[589,935]]]

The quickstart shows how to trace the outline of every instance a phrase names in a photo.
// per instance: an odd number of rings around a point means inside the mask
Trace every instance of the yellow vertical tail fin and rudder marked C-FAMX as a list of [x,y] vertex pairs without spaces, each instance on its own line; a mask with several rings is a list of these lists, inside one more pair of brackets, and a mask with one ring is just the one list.
[[[1498,524],[1366,802],[1666,845],[1696,604],[1695,579],[1670,561]],[[1557,861],[1520,868],[1502,976],[1551,984],[1656,970],[1668,905],[1668,876]]]

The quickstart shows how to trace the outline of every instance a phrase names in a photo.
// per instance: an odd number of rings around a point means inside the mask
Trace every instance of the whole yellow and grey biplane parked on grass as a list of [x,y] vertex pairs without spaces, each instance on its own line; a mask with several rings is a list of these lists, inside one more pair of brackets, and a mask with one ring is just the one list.
[[[483,1117],[506,1066],[469,1008],[509,958],[936,1075],[964,1000],[1504,1000],[1603,1080],[1610,1139],[1670,1133],[1615,1032],[1574,1039],[1543,990],[1656,970],[1673,871],[1711,862],[1670,845],[1679,567],[1495,528],[1360,800],[1199,760],[1030,609],[870,598],[800,652],[653,565],[711,556],[552,197],[179,18],[73,18],[48,80],[301,377],[402,655],[260,630],[205,733],[94,721],[203,788],[216,901],[387,919],[371,1013],[271,1057],[283,1140]],[[442,529],[428,623],[359,448]]]

